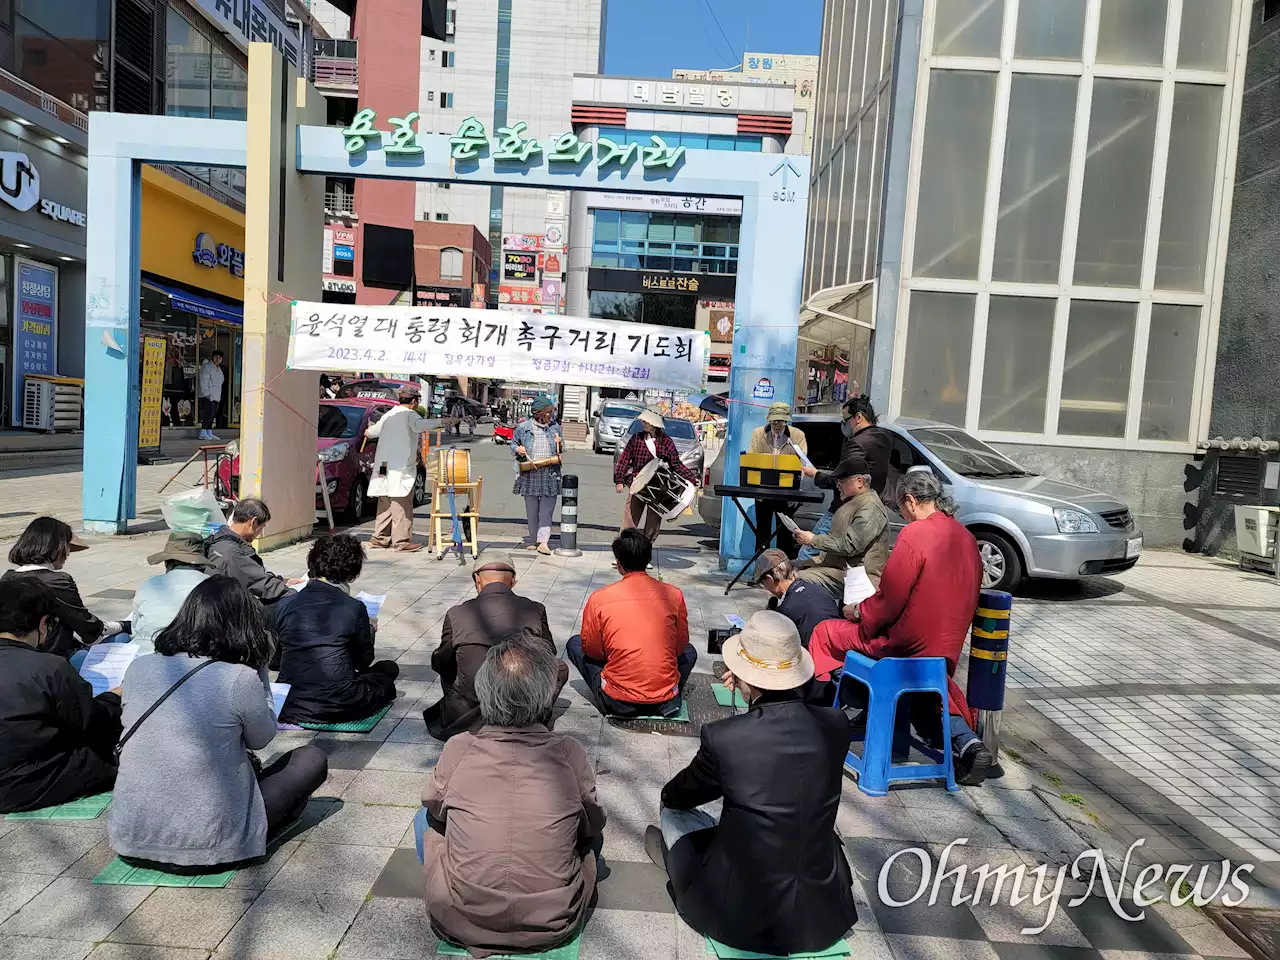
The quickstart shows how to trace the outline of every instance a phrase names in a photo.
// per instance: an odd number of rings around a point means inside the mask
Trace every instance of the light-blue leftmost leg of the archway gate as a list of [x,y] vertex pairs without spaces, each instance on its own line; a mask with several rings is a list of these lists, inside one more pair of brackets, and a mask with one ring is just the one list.
[[[90,152],[93,127],[90,119]],[[138,462],[140,165],[93,156],[88,168],[84,311],[84,530],[123,534],[136,516]]]

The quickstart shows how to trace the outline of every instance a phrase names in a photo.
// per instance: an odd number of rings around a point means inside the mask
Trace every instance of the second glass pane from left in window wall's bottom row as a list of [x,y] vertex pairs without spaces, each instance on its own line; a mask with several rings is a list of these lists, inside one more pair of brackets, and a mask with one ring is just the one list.
[[1043,433],[1056,308],[1053,300],[991,298],[978,412],[980,429]]

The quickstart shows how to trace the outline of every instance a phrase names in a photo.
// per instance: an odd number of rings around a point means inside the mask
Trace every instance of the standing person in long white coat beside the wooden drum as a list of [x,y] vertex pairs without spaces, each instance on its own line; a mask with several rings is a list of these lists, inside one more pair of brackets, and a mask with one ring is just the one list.
[[430,421],[416,410],[420,397],[417,387],[401,387],[399,406],[388,410],[365,430],[367,439],[378,440],[374,479],[369,483],[369,493],[378,497],[378,518],[369,541],[372,548],[394,547],[402,553],[422,549],[422,544],[413,543],[413,484],[419,434]]

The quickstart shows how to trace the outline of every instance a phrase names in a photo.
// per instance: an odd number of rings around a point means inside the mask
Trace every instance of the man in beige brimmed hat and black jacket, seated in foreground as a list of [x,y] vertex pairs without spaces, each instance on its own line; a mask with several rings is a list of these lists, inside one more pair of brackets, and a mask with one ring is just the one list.
[[[826,950],[858,920],[836,836],[849,719],[804,700],[813,658],[781,613],[753,614],[723,653],[726,685],[750,705],[704,726],[692,763],[662,788],[676,910],[736,950]],[[700,809],[721,797],[719,819]]]

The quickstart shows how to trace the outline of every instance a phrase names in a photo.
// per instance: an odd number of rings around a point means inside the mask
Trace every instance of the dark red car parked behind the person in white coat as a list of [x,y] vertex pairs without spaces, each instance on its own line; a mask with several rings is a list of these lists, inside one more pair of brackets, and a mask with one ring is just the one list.
[[[365,431],[378,417],[394,407],[393,401],[374,398],[320,401],[316,421],[316,452],[324,461],[329,504],[344,522],[356,524],[372,512],[369,480],[374,474],[376,440],[365,440]],[[361,449],[364,448],[364,449]],[[239,456],[223,457],[218,466],[223,488],[239,494]],[[324,509],[316,467],[316,509]],[[419,463],[413,485],[413,506],[426,503],[426,470]]]

